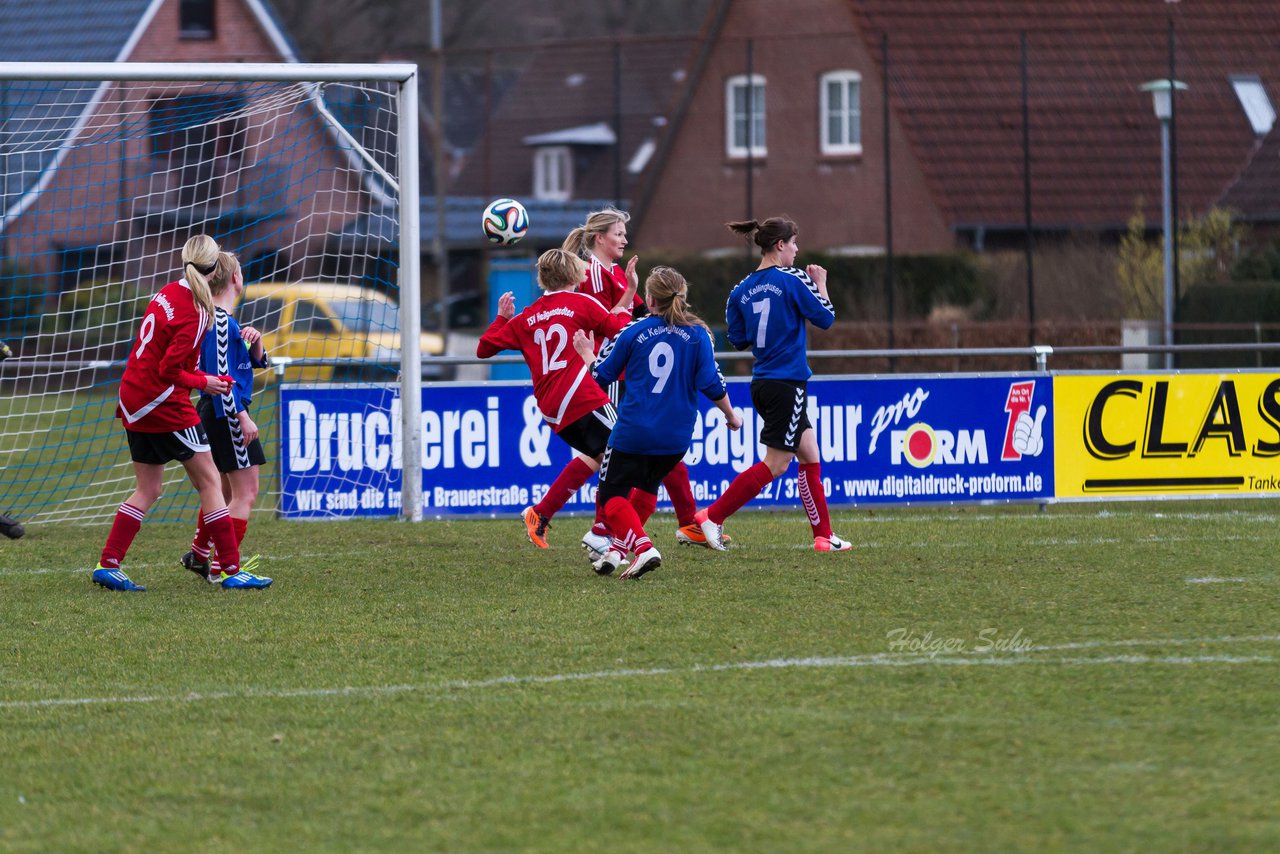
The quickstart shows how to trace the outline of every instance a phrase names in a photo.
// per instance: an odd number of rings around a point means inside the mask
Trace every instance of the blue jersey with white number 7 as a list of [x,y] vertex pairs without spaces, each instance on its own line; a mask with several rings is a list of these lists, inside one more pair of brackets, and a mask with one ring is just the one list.
[[805,321],[829,329],[836,311],[804,270],[767,266],[730,292],[724,319],[730,343],[755,355],[753,379],[803,382],[813,375]]

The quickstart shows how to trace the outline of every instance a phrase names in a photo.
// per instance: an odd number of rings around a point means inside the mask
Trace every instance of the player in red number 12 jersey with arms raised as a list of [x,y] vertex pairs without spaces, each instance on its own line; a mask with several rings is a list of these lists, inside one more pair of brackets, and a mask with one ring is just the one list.
[[[544,291],[543,296],[517,315],[515,297],[511,292],[502,294],[498,316],[476,346],[480,359],[497,356],[503,350],[518,350],[524,355],[534,378],[538,408],[556,435],[577,451],[573,462],[586,470],[582,483],[600,467],[614,410],[609,396],[573,352],[573,333],[582,329],[612,338],[631,321],[630,306],[635,297],[632,284],[612,309],[605,309],[595,297],[575,289],[585,270],[582,260],[571,252],[543,252],[538,259],[538,287]],[[567,499],[564,495],[556,510]],[[599,517],[599,510],[596,513]],[[554,510],[544,512],[535,507],[526,507],[522,513],[529,539],[538,548],[547,548],[552,515]]]

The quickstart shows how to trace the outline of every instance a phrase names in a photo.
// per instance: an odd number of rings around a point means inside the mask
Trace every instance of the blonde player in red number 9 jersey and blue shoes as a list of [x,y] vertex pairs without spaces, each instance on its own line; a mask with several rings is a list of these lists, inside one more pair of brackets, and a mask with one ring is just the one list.
[[214,315],[214,292],[230,284],[232,268],[220,262],[214,238],[198,234],[182,247],[183,278],[166,284],[147,303],[138,334],[120,379],[116,416],[124,423],[133,458],[136,487],[111,522],[106,545],[93,570],[93,583],[110,590],[146,590],[122,568],[124,554],[142,526],[142,519],[164,489],[164,466],[177,460],[200,493],[200,510],[227,560],[225,588],[261,588],[271,583],[241,566],[221,479],[209,452],[200,416],[191,403],[192,389],[221,394],[228,376],[197,370],[200,343]]

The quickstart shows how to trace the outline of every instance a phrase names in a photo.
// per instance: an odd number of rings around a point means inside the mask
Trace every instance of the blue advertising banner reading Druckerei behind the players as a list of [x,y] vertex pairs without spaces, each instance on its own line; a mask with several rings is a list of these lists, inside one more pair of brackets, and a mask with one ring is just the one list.
[[[685,462],[700,506],[763,458],[746,380],[731,431],[705,402]],[[809,419],[831,504],[1036,501],[1053,495],[1052,380],[1046,375],[814,378]],[[293,519],[399,513],[399,397],[394,387],[285,385],[282,513]],[[1046,414],[1048,414],[1046,416]],[[568,462],[525,383],[422,389],[422,512],[517,513]],[[590,512],[595,480],[563,512]],[[753,506],[799,503],[795,465]],[[659,495],[659,507],[669,507]]]

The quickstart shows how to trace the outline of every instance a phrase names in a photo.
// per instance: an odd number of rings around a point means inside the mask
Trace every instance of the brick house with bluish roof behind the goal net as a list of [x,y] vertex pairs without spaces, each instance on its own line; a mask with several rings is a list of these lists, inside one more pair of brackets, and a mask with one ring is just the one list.
[[[296,60],[262,0],[10,0],[0,6],[0,55]],[[38,125],[56,143],[5,152],[0,220],[0,255],[49,289],[115,280],[151,291],[172,277],[182,243],[200,230],[237,248],[251,279],[316,275],[328,236],[367,207],[367,188],[338,169],[340,155],[319,115],[294,119],[285,132],[274,127],[274,108],[244,118],[257,109],[259,90],[59,86],[0,82],[5,118]],[[307,110],[301,100],[279,109]]]

